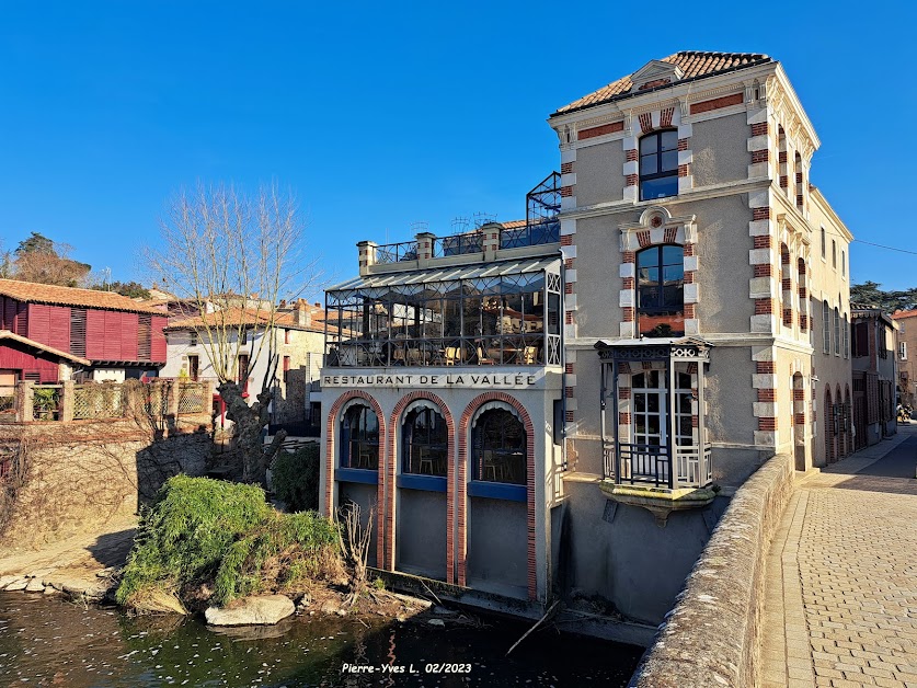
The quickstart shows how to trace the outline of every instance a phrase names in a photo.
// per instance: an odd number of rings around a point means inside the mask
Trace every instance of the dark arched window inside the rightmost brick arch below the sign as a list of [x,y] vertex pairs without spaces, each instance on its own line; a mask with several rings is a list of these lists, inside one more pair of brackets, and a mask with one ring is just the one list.
[[526,484],[526,431],[512,411],[484,411],[471,442],[472,480]]

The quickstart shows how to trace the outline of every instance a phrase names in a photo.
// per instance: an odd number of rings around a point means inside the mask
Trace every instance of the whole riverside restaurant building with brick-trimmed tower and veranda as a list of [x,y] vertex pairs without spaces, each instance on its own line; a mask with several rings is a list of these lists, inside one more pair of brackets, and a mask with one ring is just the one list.
[[322,506],[376,506],[380,567],[658,622],[757,467],[852,450],[851,234],[765,55],[653,60],[549,124],[525,222],[362,242],[329,290]]

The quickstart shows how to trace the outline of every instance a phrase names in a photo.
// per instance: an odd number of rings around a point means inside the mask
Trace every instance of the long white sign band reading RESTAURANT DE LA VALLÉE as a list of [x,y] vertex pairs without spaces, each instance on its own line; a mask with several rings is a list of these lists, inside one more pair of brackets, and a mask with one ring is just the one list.
[[322,387],[545,389],[545,375],[532,372],[405,372],[397,375],[322,375]]

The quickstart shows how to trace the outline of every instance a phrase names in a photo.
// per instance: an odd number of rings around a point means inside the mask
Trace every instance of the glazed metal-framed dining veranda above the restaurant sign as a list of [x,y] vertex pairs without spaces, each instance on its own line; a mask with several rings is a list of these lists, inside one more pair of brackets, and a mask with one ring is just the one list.
[[325,366],[559,366],[560,268],[550,256],[339,285],[325,295]]

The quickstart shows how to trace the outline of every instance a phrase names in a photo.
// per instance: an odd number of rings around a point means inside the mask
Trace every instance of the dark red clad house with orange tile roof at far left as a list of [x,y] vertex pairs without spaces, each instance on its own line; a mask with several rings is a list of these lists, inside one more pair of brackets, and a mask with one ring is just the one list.
[[111,291],[0,279],[0,387],[156,376],[168,320]]

